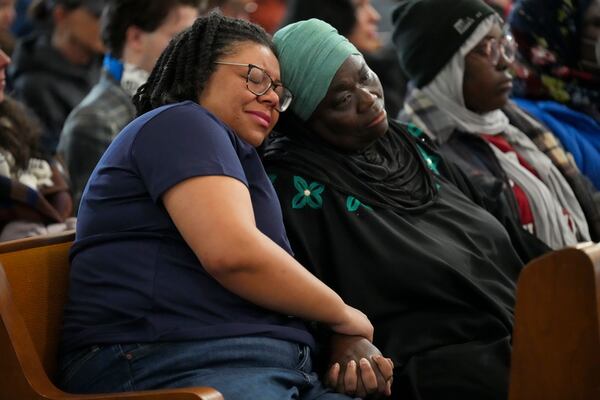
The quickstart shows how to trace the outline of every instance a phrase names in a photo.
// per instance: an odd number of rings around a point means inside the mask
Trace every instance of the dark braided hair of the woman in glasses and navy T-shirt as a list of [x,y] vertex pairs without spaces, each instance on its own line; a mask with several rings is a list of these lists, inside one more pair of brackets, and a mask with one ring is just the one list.
[[217,11],[198,18],[171,40],[133,97],[138,116],[165,104],[198,102],[215,70],[215,61],[230,54],[236,44],[248,41],[264,45],[276,54],[271,38],[258,25],[225,17]]

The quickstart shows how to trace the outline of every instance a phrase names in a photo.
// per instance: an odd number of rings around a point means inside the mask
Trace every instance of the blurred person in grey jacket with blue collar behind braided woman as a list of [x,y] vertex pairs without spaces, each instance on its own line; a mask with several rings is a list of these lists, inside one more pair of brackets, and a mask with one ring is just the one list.
[[135,117],[131,97],[169,41],[192,25],[200,0],[110,2],[101,19],[107,54],[100,81],[65,121],[58,153],[71,178],[75,206],[102,153]]

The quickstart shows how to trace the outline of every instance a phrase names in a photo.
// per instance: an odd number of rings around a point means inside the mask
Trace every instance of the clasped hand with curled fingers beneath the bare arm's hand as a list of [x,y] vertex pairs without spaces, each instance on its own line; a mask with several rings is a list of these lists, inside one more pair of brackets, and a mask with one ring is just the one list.
[[391,395],[394,364],[362,337],[334,335],[325,383],[358,397]]

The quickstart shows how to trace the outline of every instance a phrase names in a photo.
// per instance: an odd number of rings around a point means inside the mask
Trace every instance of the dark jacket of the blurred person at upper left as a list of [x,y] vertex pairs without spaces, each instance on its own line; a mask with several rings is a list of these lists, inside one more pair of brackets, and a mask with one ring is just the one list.
[[41,150],[56,151],[63,123],[100,78],[100,59],[89,65],[70,63],[50,43],[47,31],[35,33],[17,44],[8,77],[15,98],[21,100],[42,123]]

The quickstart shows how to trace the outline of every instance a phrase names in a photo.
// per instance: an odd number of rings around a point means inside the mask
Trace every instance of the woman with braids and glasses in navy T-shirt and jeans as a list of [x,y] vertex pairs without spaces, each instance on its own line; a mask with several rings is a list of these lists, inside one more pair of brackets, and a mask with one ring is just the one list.
[[[257,25],[211,13],[169,43],[83,193],[64,390],[347,399],[313,372],[305,320],[365,341],[372,325],[294,260],[256,151],[290,100]],[[392,365],[370,348],[361,376],[378,387]]]

